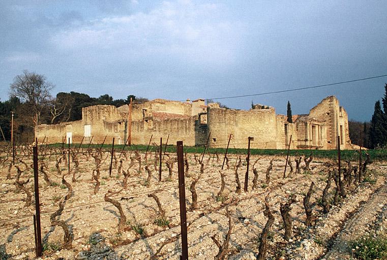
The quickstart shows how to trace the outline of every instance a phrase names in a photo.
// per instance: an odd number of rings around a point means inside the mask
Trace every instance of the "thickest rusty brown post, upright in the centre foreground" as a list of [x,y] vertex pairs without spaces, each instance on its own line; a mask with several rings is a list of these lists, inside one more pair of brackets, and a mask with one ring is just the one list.
[[178,194],[180,202],[180,228],[182,232],[182,256],[180,259],[188,260],[187,239],[187,210],[186,210],[186,187],[184,180],[184,154],[183,141],[177,141],[177,171],[178,171]]

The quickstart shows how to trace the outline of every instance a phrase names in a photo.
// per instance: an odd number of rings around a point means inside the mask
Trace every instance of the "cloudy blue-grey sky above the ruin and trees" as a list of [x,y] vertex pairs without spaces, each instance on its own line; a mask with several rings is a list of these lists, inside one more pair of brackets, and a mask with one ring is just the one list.
[[[1,1],[0,98],[23,70],[52,94],[191,100],[387,74],[387,1]],[[370,120],[387,77],[219,100],[308,113],[336,95]]]

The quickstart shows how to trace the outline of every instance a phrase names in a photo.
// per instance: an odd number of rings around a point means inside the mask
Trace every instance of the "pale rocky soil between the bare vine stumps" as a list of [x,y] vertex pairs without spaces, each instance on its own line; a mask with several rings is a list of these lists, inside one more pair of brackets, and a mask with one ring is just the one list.
[[[55,151],[52,151],[55,152]],[[116,157],[118,157],[116,154]],[[134,153],[132,154],[133,157]],[[4,156],[1,155],[1,156]],[[162,168],[162,182],[158,181],[158,173],[154,169],[154,152],[148,155],[148,164],[152,169],[150,182],[145,171],[144,154],[141,154],[141,167],[138,160],[123,156],[123,169],[129,169],[128,185],[123,188],[124,175],[118,173],[120,165],[114,164],[109,177],[110,154],[102,156],[101,186],[94,194],[96,181],[92,179],[96,168],[92,156],[79,154],[79,173],[72,182],[72,174],[65,178],[72,186],[72,197],[65,202],[64,210],[58,219],[64,220],[73,237],[71,249],[63,249],[64,232],[59,226],[51,226],[50,215],[58,210],[58,203],[68,189],[61,183],[55,167],[58,155],[46,156],[48,176],[53,182],[48,185],[40,174],[41,226],[45,251],[43,259],[179,259],[181,255],[180,210],[178,203],[177,163],[173,163],[172,178],[168,179],[165,163]],[[169,155],[171,159],[174,154]],[[165,157],[165,160],[171,160]],[[186,204],[188,221],[188,247],[191,259],[212,259],[219,249],[212,236],[223,243],[228,231],[226,206],[231,213],[232,232],[229,243],[228,259],[255,259],[258,254],[259,238],[267,221],[263,211],[264,198],[269,193],[269,204],[275,216],[272,231],[269,234],[269,253],[267,259],[342,259],[351,255],[348,241],[359,237],[380,223],[386,208],[385,192],[387,189],[385,173],[387,167],[382,163],[374,163],[368,168],[367,181],[359,186],[351,185],[347,197],[341,199],[327,214],[322,213],[321,194],[326,184],[328,168],[326,160],[316,159],[310,170],[301,170],[300,174],[292,174],[282,178],[285,168],[285,156],[277,156],[273,160],[270,171],[270,182],[266,182],[266,169],[273,156],[251,157],[249,173],[249,191],[236,192],[234,165],[237,155],[230,155],[230,169],[224,170],[225,189],[217,196],[221,187],[219,170],[222,158],[206,155],[203,159],[204,173],[196,184],[198,196],[197,209],[191,210],[192,198],[190,185],[200,173],[200,165],[194,156],[189,154],[189,172],[186,177]],[[242,166],[239,178],[242,183],[246,172],[246,155],[242,155]],[[258,160],[257,160],[258,159]],[[10,161],[4,166],[0,163],[0,258],[1,259],[35,259],[35,240],[33,214],[35,213],[32,156],[22,158],[24,163],[17,162],[23,171],[20,180],[29,182],[25,185],[32,193],[32,204],[25,207],[26,194],[15,186],[16,168],[11,168],[11,179],[7,180]],[[252,190],[253,167],[258,173],[257,188]],[[291,158],[294,164],[294,158]],[[353,162],[352,166],[356,163]],[[302,167],[305,166],[303,162]],[[71,161],[72,169],[75,167]],[[346,165],[343,165],[346,167]],[[225,166],[226,169],[226,166]],[[61,174],[67,173],[67,166],[59,164]],[[287,168],[289,173],[289,168]],[[311,182],[315,187],[311,196],[314,225],[305,225],[303,198]],[[122,189],[122,190],[121,190]],[[108,190],[120,191],[112,197],[120,202],[127,221],[125,229],[119,233],[117,229],[120,213],[111,203],[104,200]],[[329,200],[333,199],[335,183],[332,181]],[[162,218],[156,201],[148,197],[155,193],[160,199],[165,217]],[[289,241],[283,239],[284,228],[280,215],[280,203],[285,203],[292,195],[296,202],[292,205],[293,236]],[[384,217],[384,218],[383,218]],[[378,222],[379,221],[379,222]],[[161,248],[161,250],[159,250]],[[159,252],[158,252],[159,251]]]

